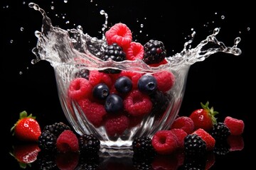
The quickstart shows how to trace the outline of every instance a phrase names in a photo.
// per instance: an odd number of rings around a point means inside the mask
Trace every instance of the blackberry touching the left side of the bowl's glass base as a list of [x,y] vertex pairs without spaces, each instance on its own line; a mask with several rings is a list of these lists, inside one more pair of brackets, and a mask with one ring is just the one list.
[[100,150],[100,140],[95,135],[83,134],[78,138],[78,142],[82,154],[97,154]]

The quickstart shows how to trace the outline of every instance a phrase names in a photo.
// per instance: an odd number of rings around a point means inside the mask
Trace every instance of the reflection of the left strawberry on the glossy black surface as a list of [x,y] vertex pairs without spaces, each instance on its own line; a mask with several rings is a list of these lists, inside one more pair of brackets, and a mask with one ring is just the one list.
[[10,154],[18,161],[20,167],[25,169],[27,165],[31,166],[31,163],[36,161],[38,152],[40,152],[38,145],[36,143],[30,143],[14,146],[14,150]]

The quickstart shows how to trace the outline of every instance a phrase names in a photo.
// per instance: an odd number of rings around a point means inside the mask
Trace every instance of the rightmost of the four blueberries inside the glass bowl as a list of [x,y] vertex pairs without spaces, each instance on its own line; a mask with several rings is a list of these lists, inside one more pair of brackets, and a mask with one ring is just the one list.
[[156,78],[150,74],[144,74],[138,81],[138,89],[144,94],[152,94],[156,91]]

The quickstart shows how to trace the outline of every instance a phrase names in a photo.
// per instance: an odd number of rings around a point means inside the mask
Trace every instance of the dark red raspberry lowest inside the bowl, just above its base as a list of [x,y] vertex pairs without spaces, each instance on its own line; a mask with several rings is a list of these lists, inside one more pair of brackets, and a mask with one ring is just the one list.
[[129,126],[129,118],[125,115],[110,115],[107,117],[105,128],[110,136],[122,135]]

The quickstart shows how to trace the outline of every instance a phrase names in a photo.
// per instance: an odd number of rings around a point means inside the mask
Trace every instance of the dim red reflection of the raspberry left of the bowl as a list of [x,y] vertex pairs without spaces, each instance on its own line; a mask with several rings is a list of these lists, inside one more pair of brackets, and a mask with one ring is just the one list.
[[79,163],[78,152],[58,153],[55,159],[58,169],[71,170],[75,169]]

